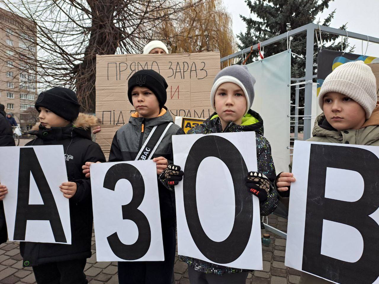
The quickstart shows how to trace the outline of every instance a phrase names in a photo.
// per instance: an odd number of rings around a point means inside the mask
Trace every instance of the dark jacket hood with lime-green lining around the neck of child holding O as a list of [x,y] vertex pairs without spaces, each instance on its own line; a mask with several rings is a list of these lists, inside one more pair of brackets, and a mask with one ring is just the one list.
[[263,136],[263,119],[258,114],[258,112],[249,109],[247,114],[242,118],[241,125],[237,125],[236,123],[230,121],[224,131],[222,131],[221,121],[216,112],[214,112],[208,119],[201,124],[208,131],[213,133],[220,132],[239,132],[239,131],[255,131],[255,133]]

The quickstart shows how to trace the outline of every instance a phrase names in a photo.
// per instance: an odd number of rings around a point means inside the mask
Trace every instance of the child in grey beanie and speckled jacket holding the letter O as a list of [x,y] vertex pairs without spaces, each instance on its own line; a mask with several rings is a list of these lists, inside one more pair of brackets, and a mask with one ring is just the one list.
[[[216,112],[187,134],[255,131],[258,172],[243,173],[246,175],[247,189],[241,190],[249,190],[258,197],[260,214],[269,215],[276,209],[279,198],[272,184],[276,173],[270,144],[263,137],[263,120],[257,112],[250,109],[254,100],[254,83],[255,78],[246,66],[233,65],[221,70],[211,90],[211,104]],[[161,175],[161,179],[169,186],[178,184],[182,177],[183,172],[177,165],[169,165]],[[242,284],[246,281],[247,271],[193,257],[180,257],[188,264],[191,284]]]

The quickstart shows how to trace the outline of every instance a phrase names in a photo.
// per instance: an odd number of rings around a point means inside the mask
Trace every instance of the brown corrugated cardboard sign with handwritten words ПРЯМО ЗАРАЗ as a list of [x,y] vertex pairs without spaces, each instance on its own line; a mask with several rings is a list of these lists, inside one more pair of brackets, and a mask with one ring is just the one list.
[[166,107],[171,115],[208,118],[213,109],[209,95],[220,71],[220,53],[96,56],[96,116],[102,131],[96,142],[106,157],[116,130],[135,112],[127,97],[128,79],[136,71],[152,69],[167,81]]

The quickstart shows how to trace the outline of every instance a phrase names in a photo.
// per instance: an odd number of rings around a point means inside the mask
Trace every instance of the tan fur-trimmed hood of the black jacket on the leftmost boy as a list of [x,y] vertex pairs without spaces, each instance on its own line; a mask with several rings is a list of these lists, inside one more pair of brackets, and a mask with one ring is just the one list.
[[77,119],[72,122],[71,126],[46,128],[38,122],[26,134],[36,135],[44,140],[47,136],[54,137],[58,140],[67,137],[81,136],[91,140],[91,128],[99,126],[100,124],[101,120],[94,115],[79,113]]

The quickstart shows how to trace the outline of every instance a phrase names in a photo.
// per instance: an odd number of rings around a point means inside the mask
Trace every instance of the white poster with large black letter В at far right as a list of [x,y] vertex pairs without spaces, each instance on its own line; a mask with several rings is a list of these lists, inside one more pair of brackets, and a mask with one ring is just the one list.
[[285,265],[379,283],[379,147],[295,141]]

